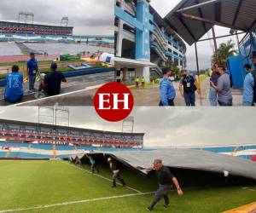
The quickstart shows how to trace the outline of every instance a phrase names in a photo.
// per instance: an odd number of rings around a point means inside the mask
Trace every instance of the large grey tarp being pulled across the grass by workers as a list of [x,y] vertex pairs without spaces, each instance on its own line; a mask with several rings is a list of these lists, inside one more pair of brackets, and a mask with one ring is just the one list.
[[131,169],[148,167],[155,158],[160,158],[163,164],[170,168],[204,170],[231,176],[241,176],[256,180],[256,163],[225,154],[211,153],[194,149],[158,149],[152,151],[106,153]]

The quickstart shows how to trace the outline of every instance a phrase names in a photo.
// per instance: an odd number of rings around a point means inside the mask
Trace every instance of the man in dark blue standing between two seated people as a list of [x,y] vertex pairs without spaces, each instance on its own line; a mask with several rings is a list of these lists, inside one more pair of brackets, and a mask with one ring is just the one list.
[[38,73],[38,60],[34,53],[30,54],[30,60],[26,63],[26,72],[29,82],[29,91],[35,90],[35,81]]

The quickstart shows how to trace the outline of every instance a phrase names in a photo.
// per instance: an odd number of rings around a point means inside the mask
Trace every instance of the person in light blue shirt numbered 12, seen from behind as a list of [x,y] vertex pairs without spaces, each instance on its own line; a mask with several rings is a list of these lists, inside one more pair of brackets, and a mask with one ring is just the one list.
[[19,66],[12,67],[12,72],[5,76],[5,81],[4,100],[9,102],[20,101],[23,96],[23,74],[19,72]]

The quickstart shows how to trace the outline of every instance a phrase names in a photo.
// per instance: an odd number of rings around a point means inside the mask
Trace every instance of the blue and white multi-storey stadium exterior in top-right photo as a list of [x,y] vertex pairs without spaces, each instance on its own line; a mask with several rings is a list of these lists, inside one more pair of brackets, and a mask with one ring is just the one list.
[[139,76],[149,81],[150,68],[160,74],[159,66],[165,66],[168,60],[186,66],[185,43],[149,3],[149,0],[115,1],[115,64],[124,81],[128,71],[131,78]]

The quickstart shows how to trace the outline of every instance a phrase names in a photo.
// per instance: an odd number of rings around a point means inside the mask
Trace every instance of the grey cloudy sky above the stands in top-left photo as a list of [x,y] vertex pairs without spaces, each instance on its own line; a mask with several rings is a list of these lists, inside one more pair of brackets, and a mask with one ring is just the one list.
[[0,20],[17,21],[24,11],[35,15],[35,23],[59,26],[68,16],[74,34],[113,35],[113,4],[113,0],[1,0]]

